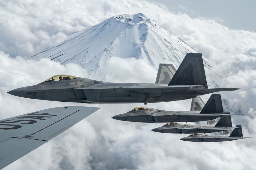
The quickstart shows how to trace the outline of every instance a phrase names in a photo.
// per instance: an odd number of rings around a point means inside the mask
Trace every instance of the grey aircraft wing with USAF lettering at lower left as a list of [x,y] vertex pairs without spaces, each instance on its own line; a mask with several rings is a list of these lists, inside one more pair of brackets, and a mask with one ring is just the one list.
[[93,107],[49,108],[0,120],[0,169],[97,111]]

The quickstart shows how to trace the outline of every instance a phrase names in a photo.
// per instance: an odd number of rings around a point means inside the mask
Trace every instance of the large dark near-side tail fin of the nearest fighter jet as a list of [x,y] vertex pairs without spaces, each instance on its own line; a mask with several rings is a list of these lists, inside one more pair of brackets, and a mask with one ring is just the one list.
[[197,84],[207,84],[203,57],[200,53],[187,53],[168,86]]

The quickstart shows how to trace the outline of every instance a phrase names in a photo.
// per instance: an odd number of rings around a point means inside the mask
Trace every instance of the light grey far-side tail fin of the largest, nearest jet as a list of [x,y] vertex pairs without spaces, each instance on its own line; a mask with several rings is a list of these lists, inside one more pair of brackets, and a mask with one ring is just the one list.
[[175,72],[176,69],[173,64],[159,64],[155,83],[169,84]]

